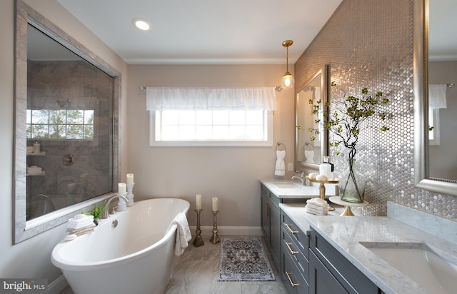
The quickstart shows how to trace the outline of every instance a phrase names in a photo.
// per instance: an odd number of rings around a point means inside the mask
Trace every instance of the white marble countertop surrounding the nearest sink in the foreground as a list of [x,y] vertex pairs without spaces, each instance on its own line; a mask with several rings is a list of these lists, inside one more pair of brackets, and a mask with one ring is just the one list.
[[[360,242],[426,243],[457,261],[457,246],[409,225],[381,216],[313,216],[304,206],[279,207],[302,230],[311,226],[386,294],[428,293]],[[453,260],[454,261],[454,260]]]

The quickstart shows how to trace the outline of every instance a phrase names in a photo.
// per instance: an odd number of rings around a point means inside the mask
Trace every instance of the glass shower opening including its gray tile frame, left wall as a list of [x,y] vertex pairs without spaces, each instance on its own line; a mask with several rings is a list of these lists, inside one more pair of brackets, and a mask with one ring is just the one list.
[[18,243],[115,191],[119,73],[22,1],[15,66]]

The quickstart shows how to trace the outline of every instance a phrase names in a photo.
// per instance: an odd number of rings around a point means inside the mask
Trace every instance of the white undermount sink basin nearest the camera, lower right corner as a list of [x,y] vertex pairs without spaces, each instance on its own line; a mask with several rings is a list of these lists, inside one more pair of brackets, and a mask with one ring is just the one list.
[[456,293],[457,260],[451,262],[439,256],[438,251],[428,245],[377,242],[361,242],[361,245],[407,275],[428,292]]

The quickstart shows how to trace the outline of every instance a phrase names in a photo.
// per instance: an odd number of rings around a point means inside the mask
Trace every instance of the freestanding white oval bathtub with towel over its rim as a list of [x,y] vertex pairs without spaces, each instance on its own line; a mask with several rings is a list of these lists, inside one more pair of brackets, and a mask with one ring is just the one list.
[[51,261],[75,294],[163,293],[177,261],[171,221],[188,210],[189,202],[178,198],[136,202],[94,232],[57,244]]

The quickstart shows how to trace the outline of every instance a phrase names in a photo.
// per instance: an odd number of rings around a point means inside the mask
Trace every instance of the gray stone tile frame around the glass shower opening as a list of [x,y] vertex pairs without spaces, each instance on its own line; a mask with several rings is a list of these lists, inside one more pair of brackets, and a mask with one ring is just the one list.
[[[13,244],[38,235],[45,230],[65,223],[81,210],[89,211],[95,203],[104,201],[117,191],[119,163],[121,162],[119,142],[119,106],[121,93],[121,74],[93,52],[80,44],[36,12],[21,0],[16,0],[15,19],[15,56],[14,56],[14,153],[13,153]],[[114,79],[113,86],[113,184],[111,193],[91,198],[87,201],[61,208],[44,216],[26,220],[26,108],[27,108],[27,25],[31,24],[62,46],[81,56],[82,59],[104,71]]]

